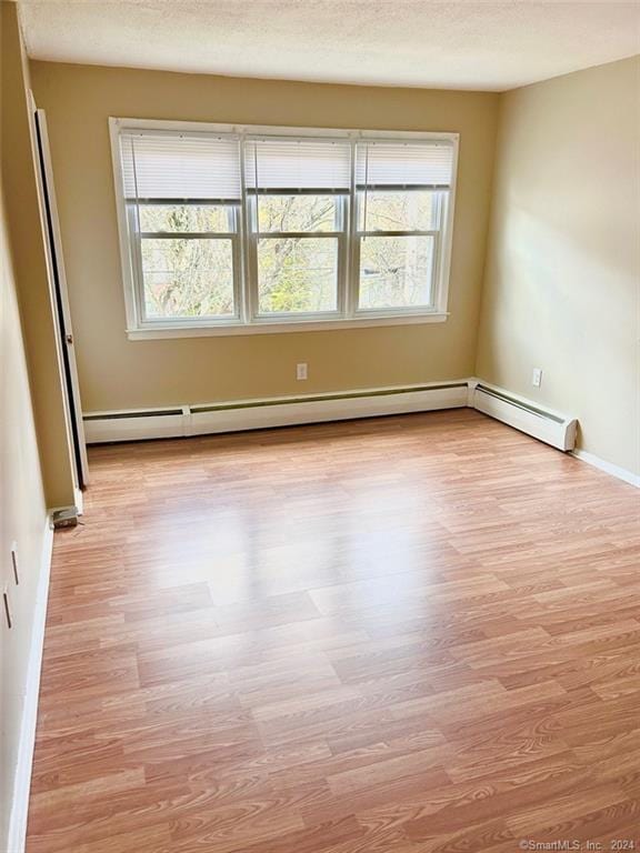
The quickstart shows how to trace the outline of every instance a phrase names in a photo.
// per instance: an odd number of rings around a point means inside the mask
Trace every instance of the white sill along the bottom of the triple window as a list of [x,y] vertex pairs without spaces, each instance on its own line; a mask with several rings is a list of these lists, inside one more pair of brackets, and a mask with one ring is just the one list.
[[162,338],[217,338],[233,334],[287,334],[292,332],[327,332],[337,329],[362,329],[376,325],[416,325],[443,323],[448,313],[404,314],[400,317],[366,317],[348,320],[299,320],[257,323],[227,323],[220,325],[154,325],[128,329],[130,341],[149,341]]

